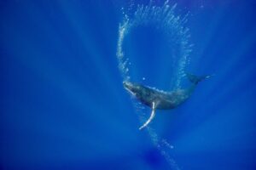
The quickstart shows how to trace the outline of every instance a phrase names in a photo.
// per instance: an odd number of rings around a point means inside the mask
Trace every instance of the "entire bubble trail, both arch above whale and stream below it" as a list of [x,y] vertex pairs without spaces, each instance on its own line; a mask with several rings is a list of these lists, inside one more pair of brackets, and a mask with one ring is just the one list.
[[[135,8],[134,12],[131,12]],[[175,14],[177,4],[169,5],[166,1],[161,6],[154,5],[154,1],[150,1],[148,5],[135,5],[133,1],[125,12],[122,8],[123,20],[119,24],[119,37],[117,42],[117,59],[119,61],[119,71],[123,77],[123,81],[131,81],[130,70],[132,63],[129,56],[125,55],[124,40],[129,36],[131,30],[140,26],[155,26],[165,34],[170,47],[174,47],[175,52],[172,53],[172,82],[174,88],[180,88],[180,83],[184,75],[184,68],[189,64],[189,54],[191,52],[192,44],[189,43],[189,28],[184,26],[187,22],[188,14],[180,16]],[[132,50],[132,49],[131,49]],[[168,49],[167,49],[168,50]],[[131,57],[131,56],[130,56]],[[145,80],[144,77],[141,79]],[[133,100],[137,115],[140,122],[145,122],[146,115],[143,112],[144,107]],[[174,148],[166,139],[161,139],[155,132],[153,127],[146,127],[148,135],[155,147],[160,151],[161,155],[165,157],[171,169],[179,170],[176,161],[172,158],[170,151]]]

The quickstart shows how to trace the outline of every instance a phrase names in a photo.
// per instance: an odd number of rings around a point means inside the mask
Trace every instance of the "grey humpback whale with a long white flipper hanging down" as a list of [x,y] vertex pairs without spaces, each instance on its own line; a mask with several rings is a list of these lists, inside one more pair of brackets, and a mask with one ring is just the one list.
[[192,85],[189,88],[176,89],[171,92],[150,88],[136,82],[123,82],[124,88],[131,93],[132,96],[136,97],[141,103],[148,105],[152,109],[148,121],[145,122],[143,126],[139,127],[140,130],[147,127],[148,123],[153,120],[156,109],[171,110],[176,108],[178,105],[183,104],[183,102],[189,99],[189,96],[194,92],[198,82],[211,77],[197,77],[189,73],[186,73],[186,76],[189,78]]

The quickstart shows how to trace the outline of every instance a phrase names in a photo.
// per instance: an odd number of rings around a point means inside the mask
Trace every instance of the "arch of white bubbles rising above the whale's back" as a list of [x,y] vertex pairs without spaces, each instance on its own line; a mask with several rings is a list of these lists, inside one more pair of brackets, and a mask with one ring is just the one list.
[[131,31],[132,28],[137,26],[147,26],[148,24],[154,24],[157,29],[165,31],[168,39],[175,40],[179,47],[178,56],[172,56],[177,59],[177,69],[175,72],[176,88],[179,87],[181,77],[185,66],[189,63],[189,54],[191,52],[192,44],[189,43],[189,28],[185,23],[187,22],[187,16],[181,17],[175,14],[175,8],[177,4],[172,6],[168,5],[168,1],[163,6],[154,6],[152,3],[149,5],[137,5],[137,9],[134,14],[124,14],[123,21],[119,24],[119,37],[117,45],[117,58],[119,60],[119,71],[124,81],[130,80],[129,76],[129,59],[125,56],[123,51],[123,42],[125,36]]

